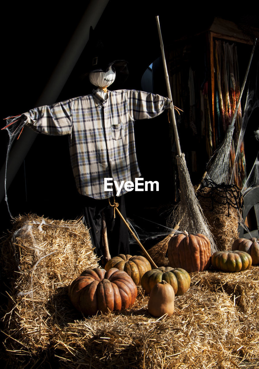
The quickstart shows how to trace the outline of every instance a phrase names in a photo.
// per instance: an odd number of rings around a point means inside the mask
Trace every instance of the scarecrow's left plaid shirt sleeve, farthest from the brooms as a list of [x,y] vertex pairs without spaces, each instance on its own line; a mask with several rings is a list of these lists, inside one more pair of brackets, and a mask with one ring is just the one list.
[[26,124],[47,135],[71,134],[73,124],[72,100],[44,105],[24,113]]

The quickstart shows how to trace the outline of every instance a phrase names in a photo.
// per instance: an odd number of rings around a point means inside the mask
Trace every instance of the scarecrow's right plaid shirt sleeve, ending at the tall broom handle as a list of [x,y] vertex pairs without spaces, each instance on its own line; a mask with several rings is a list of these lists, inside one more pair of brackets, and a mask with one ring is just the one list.
[[169,108],[168,97],[137,90],[128,91],[129,114],[134,120],[154,118]]

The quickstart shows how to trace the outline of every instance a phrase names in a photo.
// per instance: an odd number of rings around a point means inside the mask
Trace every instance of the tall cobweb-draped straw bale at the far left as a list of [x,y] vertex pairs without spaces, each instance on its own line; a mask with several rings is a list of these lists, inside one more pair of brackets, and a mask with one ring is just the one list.
[[[2,244],[2,263],[10,284],[5,332],[33,355],[50,344],[67,286],[82,270],[98,266],[89,232],[81,221],[20,216]],[[10,353],[17,341],[10,341]]]

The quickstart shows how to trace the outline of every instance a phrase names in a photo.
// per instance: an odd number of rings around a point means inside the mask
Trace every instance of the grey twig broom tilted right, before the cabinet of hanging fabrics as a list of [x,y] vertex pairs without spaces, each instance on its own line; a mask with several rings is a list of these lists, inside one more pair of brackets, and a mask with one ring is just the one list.
[[238,114],[238,108],[239,108],[241,97],[242,97],[242,94],[245,88],[245,83],[246,83],[249,68],[252,62],[253,54],[255,51],[256,41],[257,41],[257,38],[255,39],[255,43],[253,45],[252,53],[251,53],[250,60],[248,63],[248,68],[246,70],[245,78],[244,78],[243,85],[240,91],[238,102],[236,104],[235,113],[234,113],[231,125],[228,126],[224,140],[222,141],[222,144],[219,146],[219,148],[215,152],[214,161],[212,162],[211,167],[207,173],[207,176],[217,184],[223,183],[223,182],[226,184],[228,183],[229,152],[231,149],[232,136],[233,136],[233,132],[235,129],[234,124],[236,120],[236,115]]

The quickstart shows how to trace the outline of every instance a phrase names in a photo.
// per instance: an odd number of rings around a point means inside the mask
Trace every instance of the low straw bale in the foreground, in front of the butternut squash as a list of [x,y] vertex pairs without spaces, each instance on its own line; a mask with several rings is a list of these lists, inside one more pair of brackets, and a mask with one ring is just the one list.
[[190,290],[175,297],[175,313],[158,319],[148,314],[148,297],[138,287],[132,309],[59,329],[53,345],[61,367],[223,369],[255,362],[258,277],[255,267],[235,274],[193,273]]

